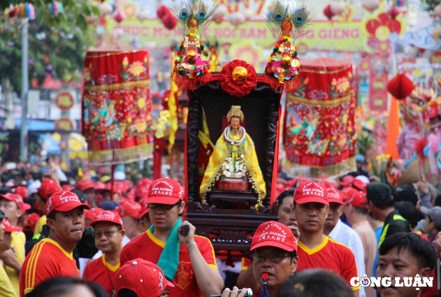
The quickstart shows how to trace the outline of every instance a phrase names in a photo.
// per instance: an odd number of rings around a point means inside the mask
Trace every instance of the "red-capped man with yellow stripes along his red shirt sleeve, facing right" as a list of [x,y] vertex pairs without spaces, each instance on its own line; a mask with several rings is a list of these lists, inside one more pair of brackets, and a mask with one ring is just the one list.
[[89,206],[71,191],[57,191],[50,196],[45,207],[49,237],[34,245],[24,259],[20,297],[50,277],[80,277],[72,252],[85,230],[85,208]]

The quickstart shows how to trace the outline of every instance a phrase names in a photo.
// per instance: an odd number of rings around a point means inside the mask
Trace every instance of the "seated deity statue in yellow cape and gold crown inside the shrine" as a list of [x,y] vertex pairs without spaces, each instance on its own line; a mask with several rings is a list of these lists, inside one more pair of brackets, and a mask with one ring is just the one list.
[[240,126],[244,119],[240,106],[231,106],[226,119],[229,126],[217,140],[201,182],[203,202],[207,191],[212,189],[248,190],[251,184],[261,204],[266,192],[265,181],[254,142]]

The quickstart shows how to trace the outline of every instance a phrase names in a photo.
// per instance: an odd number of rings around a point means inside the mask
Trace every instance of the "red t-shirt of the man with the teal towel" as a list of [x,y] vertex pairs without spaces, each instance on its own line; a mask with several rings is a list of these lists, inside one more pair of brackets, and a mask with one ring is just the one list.
[[[210,240],[203,236],[194,236],[194,241],[198,244],[199,252],[210,267],[216,268],[215,251]],[[120,263],[124,265],[126,261],[141,258],[152,263],[158,263],[159,256],[164,249],[166,242],[162,242],[153,236],[150,230],[136,236],[123,248],[120,256]],[[190,254],[187,247],[180,242],[179,265],[175,278],[173,279],[174,288],[170,288],[170,296],[190,297],[202,296],[194,276],[193,266],[191,266]]]

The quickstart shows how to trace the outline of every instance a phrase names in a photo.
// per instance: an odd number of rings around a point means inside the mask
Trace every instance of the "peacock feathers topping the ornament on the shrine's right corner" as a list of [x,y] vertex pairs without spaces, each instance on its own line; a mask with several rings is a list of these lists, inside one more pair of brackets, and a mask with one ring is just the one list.
[[296,2],[274,1],[269,7],[267,24],[274,38],[284,36],[295,40],[305,34],[305,28],[310,25],[311,19],[308,8],[297,8]]

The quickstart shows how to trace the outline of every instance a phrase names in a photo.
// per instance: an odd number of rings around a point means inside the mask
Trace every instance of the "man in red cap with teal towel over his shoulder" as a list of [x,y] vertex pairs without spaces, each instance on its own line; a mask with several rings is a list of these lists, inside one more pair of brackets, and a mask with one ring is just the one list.
[[[120,263],[136,258],[157,263],[175,285],[170,289],[174,297],[219,294],[224,281],[217,270],[215,252],[208,238],[195,236],[195,227],[181,222],[185,210],[182,198],[183,189],[175,180],[152,182],[146,199],[152,226],[123,247]],[[188,233],[182,232],[187,228]]]

